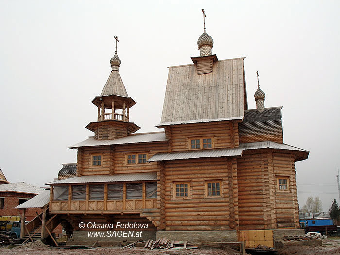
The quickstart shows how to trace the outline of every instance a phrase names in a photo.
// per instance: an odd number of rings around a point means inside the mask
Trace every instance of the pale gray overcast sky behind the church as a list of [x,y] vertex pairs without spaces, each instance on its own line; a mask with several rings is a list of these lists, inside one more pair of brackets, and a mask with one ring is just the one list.
[[[137,104],[139,132],[160,131],[168,66],[190,64],[203,32],[213,54],[246,57],[248,106],[256,71],[266,107],[283,106],[284,142],[310,151],[296,163],[298,199],[338,200],[340,1],[0,0],[0,168],[37,186],[76,162],[68,146],[93,133],[91,100],[110,74],[118,35],[120,75]],[[338,201],[339,202],[339,201]]]

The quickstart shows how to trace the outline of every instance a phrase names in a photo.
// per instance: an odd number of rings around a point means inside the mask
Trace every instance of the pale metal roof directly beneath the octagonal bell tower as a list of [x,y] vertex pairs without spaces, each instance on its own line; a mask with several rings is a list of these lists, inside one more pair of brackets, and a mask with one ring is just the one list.
[[76,143],[69,148],[87,147],[87,146],[102,146],[102,145],[115,145],[115,144],[128,144],[128,143],[143,143],[143,142],[159,142],[167,141],[164,132],[153,133],[140,133],[125,136],[114,140],[96,140],[94,137],[89,137],[85,141]]

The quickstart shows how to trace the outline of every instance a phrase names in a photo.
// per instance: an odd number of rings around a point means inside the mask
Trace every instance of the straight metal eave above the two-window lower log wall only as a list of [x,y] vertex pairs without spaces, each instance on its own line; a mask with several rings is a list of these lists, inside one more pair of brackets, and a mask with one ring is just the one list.
[[228,149],[209,149],[199,151],[186,151],[177,153],[159,153],[147,160],[148,162],[162,161],[162,160],[176,160],[176,159],[190,159],[190,158],[202,158],[202,157],[228,157],[228,156],[240,156],[242,155],[242,149],[228,148]]

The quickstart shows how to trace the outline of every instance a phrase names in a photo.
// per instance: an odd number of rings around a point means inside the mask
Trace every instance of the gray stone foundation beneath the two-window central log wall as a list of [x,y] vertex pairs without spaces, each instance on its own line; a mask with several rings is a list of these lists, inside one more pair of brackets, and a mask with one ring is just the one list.
[[175,241],[187,241],[201,244],[202,241],[236,242],[236,230],[226,231],[157,231],[156,239],[167,238]]

